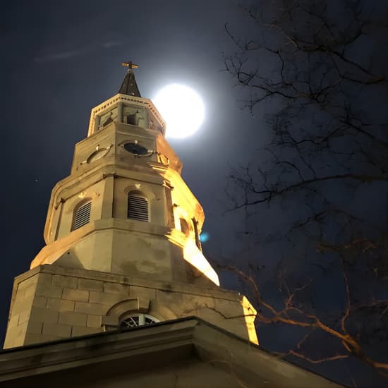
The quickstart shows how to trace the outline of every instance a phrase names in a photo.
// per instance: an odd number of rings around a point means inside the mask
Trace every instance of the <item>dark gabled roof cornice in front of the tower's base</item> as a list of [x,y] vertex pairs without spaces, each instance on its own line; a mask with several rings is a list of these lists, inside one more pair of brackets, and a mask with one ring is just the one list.
[[[126,372],[128,379],[140,369],[150,372],[142,355],[147,358],[154,356],[152,368],[171,367],[174,363],[181,365],[182,360],[189,362],[193,349],[198,357],[196,362],[227,360],[226,366],[231,368],[233,365],[232,375],[238,375],[249,387],[261,387],[262,384],[289,388],[341,387],[198,317],[6,349],[0,351],[0,381],[17,384],[20,378],[25,381],[42,374],[55,379],[53,373],[66,369],[71,372],[75,367],[83,370],[83,375],[78,375],[78,378],[87,380],[91,371],[95,378],[99,373],[103,375],[107,371],[104,363],[108,367],[112,360],[115,370],[111,377]],[[160,351],[164,352],[163,357],[157,356]],[[225,365],[213,366],[226,368]]]

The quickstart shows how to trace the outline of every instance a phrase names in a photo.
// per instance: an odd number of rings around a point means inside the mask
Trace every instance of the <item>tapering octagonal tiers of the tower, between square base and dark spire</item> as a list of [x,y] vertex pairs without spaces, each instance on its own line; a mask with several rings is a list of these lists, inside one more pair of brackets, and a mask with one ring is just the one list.
[[71,175],[54,187],[47,245],[32,261],[159,281],[218,285],[202,255],[204,213],[181,178],[149,99],[115,95],[92,109]]

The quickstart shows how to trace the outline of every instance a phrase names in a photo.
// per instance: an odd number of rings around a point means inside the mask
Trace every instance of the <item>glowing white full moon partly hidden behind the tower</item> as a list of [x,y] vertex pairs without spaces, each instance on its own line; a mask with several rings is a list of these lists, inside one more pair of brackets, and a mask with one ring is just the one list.
[[155,107],[166,120],[169,138],[186,138],[200,128],[205,114],[202,99],[190,87],[171,84],[153,99]]

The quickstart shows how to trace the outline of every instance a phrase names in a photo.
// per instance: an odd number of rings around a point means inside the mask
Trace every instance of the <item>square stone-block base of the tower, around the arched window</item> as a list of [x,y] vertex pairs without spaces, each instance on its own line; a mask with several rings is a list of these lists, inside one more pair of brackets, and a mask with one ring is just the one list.
[[235,291],[40,265],[15,279],[4,348],[116,329],[128,313],[198,316],[257,342],[255,310]]

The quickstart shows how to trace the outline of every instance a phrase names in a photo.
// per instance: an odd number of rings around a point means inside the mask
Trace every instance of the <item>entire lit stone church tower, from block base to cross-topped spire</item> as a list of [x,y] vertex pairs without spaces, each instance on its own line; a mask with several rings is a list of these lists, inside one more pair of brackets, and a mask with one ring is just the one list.
[[4,348],[195,315],[257,343],[255,310],[202,254],[202,207],[131,61],[54,186],[46,245],[16,277]]

